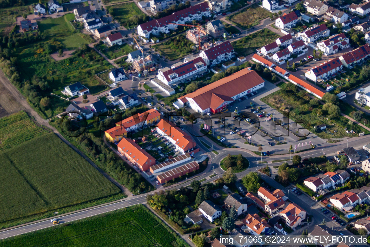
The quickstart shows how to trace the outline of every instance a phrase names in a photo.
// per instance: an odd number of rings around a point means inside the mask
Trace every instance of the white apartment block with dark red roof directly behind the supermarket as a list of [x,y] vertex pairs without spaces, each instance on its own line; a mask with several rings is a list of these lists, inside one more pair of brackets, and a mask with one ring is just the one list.
[[166,85],[176,85],[203,76],[206,71],[207,64],[202,57],[198,57],[176,67],[159,69],[157,78]]

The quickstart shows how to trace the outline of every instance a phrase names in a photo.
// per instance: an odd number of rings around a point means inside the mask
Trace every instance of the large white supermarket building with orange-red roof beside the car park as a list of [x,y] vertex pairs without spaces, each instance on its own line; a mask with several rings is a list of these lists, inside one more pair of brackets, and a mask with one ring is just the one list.
[[236,99],[264,87],[265,81],[250,68],[245,68],[186,94],[174,103],[179,109],[189,106],[201,114],[218,113]]

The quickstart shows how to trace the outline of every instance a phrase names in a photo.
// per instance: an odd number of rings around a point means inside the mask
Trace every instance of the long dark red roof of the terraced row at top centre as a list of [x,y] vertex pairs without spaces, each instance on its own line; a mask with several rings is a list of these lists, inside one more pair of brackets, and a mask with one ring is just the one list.
[[[193,14],[196,14],[198,11],[205,12],[207,10],[209,10],[208,3],[203,2],[201,4],[197,4],[197,5],[191,6],[186,9],[176,11],[173,14],[170,14],[169,16],[165,16],[157,20],[154,19],[146,23],[140,24],[139,27],[141,27],[142,30],[147,30],[149,32],[153,29],[153,27],[157,27],[157,28],[163,27],[165,25],[168,25],[169,23],[175,23],[180,18],[186,18],[190,14],[193,15]],[[159,26],[158,23],[161,26]]]

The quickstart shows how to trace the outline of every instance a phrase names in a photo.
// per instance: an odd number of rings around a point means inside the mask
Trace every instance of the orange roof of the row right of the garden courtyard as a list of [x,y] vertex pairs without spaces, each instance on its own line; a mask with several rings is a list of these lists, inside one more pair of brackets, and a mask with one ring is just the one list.
[[172,140],[176,141],[176,145],[182,148],[185,152],[196,146],[195,141],[193,141],[188,134],[180,130],[180,128],[176,127],[171,122],[167,122],[162,119],[159,121],[157,128],[171,137]]

